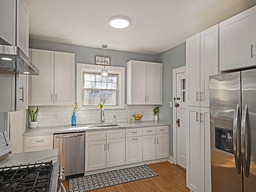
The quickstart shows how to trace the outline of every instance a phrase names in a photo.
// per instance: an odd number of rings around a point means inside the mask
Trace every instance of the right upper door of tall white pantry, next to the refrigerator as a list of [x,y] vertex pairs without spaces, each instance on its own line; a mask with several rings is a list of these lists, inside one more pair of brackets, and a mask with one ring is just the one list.
[[209,107],[209,76],[218,74],[218,24],[200,33],[200,106]]

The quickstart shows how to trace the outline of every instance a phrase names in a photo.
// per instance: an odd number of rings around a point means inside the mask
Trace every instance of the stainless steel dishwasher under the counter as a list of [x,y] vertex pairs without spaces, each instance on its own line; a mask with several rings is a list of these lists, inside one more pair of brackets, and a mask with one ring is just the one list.
[[84,132],[54,134],[53,148],[58,149],[58,161],[65,167],[65,176],[84,173]]

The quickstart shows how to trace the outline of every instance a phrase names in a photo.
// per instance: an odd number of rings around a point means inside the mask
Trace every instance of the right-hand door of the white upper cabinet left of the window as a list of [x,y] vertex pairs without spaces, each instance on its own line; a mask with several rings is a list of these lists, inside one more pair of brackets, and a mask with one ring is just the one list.
[[54,52],[54,105],[74,104],[74,70],[75,54]]

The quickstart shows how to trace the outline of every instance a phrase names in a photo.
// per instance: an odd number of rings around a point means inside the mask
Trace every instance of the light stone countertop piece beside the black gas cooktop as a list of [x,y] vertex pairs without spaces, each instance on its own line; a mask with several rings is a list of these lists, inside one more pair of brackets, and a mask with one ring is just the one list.
[[57,162],[58,149],[14,153],[10,154],[0,162],[0,167],[20,165],[20,164],[33,164],[35,162]]

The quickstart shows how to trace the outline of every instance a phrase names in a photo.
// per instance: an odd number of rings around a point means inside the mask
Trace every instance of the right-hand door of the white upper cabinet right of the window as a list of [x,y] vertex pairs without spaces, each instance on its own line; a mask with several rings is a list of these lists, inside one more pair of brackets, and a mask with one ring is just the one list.
[[162,104],[162,63],[147,62],[147,98],[150,105]]

